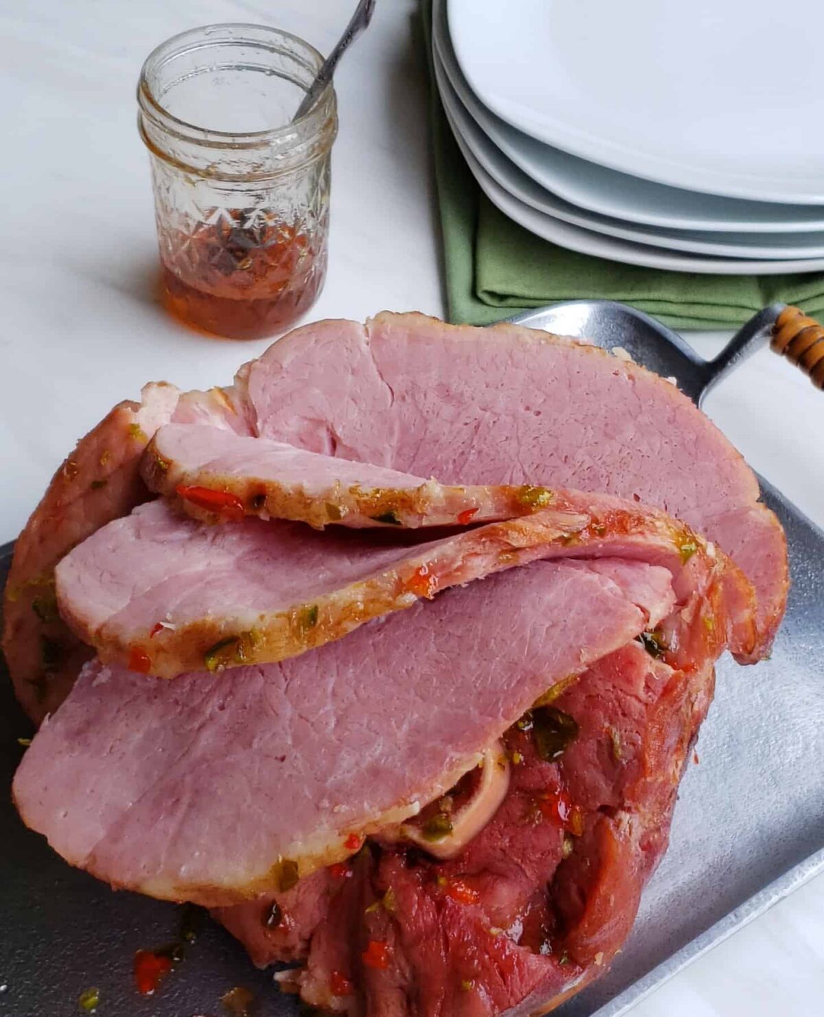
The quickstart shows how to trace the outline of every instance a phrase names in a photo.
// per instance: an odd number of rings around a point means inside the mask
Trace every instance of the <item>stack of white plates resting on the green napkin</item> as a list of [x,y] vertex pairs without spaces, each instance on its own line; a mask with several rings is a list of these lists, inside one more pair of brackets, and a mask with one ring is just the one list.
[[437,86],[490,200],[676,272],[824,270],[824,86],[797,37],[824,38],[822,0],[434,0]]

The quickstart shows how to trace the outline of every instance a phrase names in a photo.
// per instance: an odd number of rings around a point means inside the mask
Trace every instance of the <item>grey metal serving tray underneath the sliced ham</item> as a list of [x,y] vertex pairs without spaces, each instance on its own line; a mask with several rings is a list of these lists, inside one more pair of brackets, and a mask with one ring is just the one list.
[[[558,1010],[560,1017],[619,1017],[824,870],[824,534],[769,484],[763,492],[786,530],[793,575],[772,657],[747,668],[720,661],[700,765],[684,778],[671,847],[632,936],[612,971]],[[0,584],[10,554],[11,545],[0,549]],[[2,674],[6,788],[23,752],[17,738],[29,733]],[[180,909],[113,893],[70,869],[23,828],[7,793],[0,799],[0,1017],[69,1017],[92,985],[101,1017],[218,1017],[219,997],[235,985],[254,992],[257,1017],[298,1013],[270,973],[256,971],[205,915],[197,942],[156,998],[139,997],[133,954],[174,940]]]

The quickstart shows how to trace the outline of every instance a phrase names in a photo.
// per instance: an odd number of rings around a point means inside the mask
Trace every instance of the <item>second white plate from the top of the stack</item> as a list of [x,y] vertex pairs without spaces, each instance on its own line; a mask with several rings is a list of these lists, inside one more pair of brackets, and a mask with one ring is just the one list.
[[570,204],[601,216],[671,230],[804,233],[824,230],[824,208],[745,201],[682,190],[609,170],[536,141],[478,99],[455,59],[446,0],[435,0],[433,37],[447,76],[484,133],[521,169]]

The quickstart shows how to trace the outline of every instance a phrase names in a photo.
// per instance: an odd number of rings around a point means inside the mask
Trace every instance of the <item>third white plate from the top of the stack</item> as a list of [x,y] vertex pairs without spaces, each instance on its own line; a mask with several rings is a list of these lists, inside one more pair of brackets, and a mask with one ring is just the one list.
[[627,225],[619,220],[568,204],[522,173],[492,143],[461,105],[437,53],[433,53],[433,61],[438,91],[454,130],[460,134],[471,154],[495,182],[532,208],[560,219],[564,223],[594,230],[595,233],[617,237],[620,240],[650,244],[668,250],[688,251],[691,254],[784,261],[788,258],[824,258],[824,234],[821,233],[782,236],[769,233],[674,232],[654,227]]

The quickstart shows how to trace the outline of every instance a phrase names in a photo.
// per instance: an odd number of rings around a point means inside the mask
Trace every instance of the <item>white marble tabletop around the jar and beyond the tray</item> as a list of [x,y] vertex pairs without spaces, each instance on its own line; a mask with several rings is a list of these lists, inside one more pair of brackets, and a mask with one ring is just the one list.
[[[154,298],[142,58],[206,21],[276,21],[328,51],[344,0],[0,0],[0,540],[12,539],[74,439],[149,379],[227,380],[266,345],[204,339]],[[416,0],[381,0],[338,75],[329,279],[317,316],[442,310]],[[702,352],[720,337],[694,337]],[[707,411],[753,466],[824,524],[824,397],[759,354]],[[644,1002],[636,1017],[824,1015],[824,877]],[[47,1017],[47,1015],[44,1015]]]

